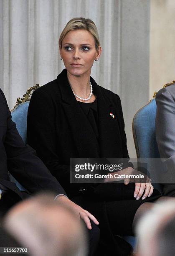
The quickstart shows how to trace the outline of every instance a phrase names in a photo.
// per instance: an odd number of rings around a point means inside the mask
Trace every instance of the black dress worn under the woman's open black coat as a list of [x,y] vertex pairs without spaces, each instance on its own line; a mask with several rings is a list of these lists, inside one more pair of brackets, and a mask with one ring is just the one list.
[[[99,138],[98,132],[98,99],[91,103],[79,102],[80,107],[84,111],[89,124],[92,126],[96,138]],[[101,188],[99,188],[101,187]],[[121,183],[109,183],[109,184],[100,184],[99,187],[96,187],[94,194],[98,195],[103,194],[113,194],[116,190],[120,194],[120,198],[117,200],[107,200],[106,208],[107,215],[109,217],[109,223],[112,228],[114,235],[134,235],[132,232],[132,222],[134,215],[139,208],[139,206],[144,202],[153,202],[155,199],[161,196],[160,192],[157,189],[154,189],[152,196],[145,200],[136,200],[134,198],[134,189],[135,184],[128,184],[127,186]],[[107,199],[107,197],[105,198]],[[127,199],[127,200],[126,200]]]

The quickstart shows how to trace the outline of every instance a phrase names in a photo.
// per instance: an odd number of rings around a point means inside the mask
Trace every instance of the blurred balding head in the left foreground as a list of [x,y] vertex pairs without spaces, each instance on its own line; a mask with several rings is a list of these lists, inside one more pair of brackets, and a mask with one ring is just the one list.
[[41,194],[15,205],[5,229],[30,256],[86,256],[86,229],[65,204]]

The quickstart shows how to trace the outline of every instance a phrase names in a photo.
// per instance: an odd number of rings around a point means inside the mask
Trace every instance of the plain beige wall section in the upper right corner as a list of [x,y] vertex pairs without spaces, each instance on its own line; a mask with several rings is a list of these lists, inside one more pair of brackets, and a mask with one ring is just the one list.
[[175,80],[175,0],[150,1],[150,99]]

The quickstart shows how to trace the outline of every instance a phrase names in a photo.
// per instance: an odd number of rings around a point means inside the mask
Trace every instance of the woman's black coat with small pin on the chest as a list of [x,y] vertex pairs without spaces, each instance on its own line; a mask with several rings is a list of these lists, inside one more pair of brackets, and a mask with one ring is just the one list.
[[129,158],[119,96],[97,85],[92,77],[90,82],[98,102],[99,142],[63,69],[56,80],[33,92],[28,109],[28,143],[71,199],[100,220],[101,255],[124,256],[130,246],[119,237],[120,245],[116,244],[105,201],[89,199],[86,190],[79,192],[77,184],[70,186],[70,158]]

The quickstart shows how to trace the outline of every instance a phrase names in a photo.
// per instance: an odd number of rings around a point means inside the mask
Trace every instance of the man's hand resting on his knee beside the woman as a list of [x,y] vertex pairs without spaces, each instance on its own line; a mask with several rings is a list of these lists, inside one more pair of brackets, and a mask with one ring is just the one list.
[[83,219],[86,223],[86,226],[88,229],[92,229],[90,219],[96,224],[99,225],[98,220],[88,211],[81,208],[79,205],[76,205],[74,202],[69,200],[67,197],[60,195],[56,198],[56,201],[61,202],[63,205],[65,205],[67,208],[71,209],[76,216],[80,219]]

